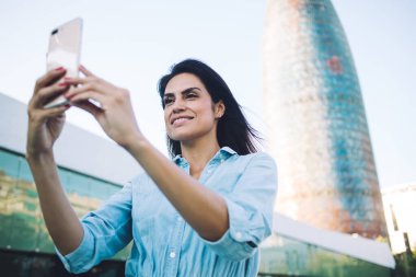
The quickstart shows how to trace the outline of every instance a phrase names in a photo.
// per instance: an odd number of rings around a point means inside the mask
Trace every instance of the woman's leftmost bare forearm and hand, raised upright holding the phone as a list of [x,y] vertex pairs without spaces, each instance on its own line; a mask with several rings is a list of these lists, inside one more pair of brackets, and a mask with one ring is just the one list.
[[62,130],[69,106],[44,108],[48,101],[68,91],[68,84],[58,83],[65,73],[63,68],[58,68],[36,82],[27,107],[26,160],[49,234],[57,249],[68,254],[80,244],[83,230],[60,184],[53,146]]

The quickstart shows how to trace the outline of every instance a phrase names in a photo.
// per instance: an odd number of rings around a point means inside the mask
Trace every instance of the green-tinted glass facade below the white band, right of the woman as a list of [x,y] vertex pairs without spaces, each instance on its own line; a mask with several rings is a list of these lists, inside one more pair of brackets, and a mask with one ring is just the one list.
[[261,249],[258,276],[390,277],[385,266],[274,233]]

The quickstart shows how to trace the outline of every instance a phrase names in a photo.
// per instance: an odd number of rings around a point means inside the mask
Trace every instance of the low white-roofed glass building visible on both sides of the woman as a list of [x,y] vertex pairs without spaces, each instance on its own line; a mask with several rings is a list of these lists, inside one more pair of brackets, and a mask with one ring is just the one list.
[[[55,255],[24,159],[26,125],[26,106],[0,93],[0,268],[13,277],[70,276]],[[56,143],[59,175],[80,217],[141,172],[115,143],[70,124]],[[394,268],[385,243],[320,230],[278,213],[261,252],[261,276],[383,277]],[[127,246],[83,276],[124,276],[128,254]]]

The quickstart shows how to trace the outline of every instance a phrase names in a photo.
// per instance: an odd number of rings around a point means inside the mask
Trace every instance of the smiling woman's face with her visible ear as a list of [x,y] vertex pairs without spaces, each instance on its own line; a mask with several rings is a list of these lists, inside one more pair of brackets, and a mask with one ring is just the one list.
[[224,112],[222,101],[215,104],[204,83],[192,73],[173,77],[163,97],[167,136],[192,141],[211,136],[217,139],[217,120]]

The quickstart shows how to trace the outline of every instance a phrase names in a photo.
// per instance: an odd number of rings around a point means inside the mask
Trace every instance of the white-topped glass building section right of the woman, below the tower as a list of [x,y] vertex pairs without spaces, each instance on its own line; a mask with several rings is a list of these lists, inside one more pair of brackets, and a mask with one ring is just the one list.
[[386,243],[319,229],[275,213],[262,244],[259,276],[390,277],[395,262]]

